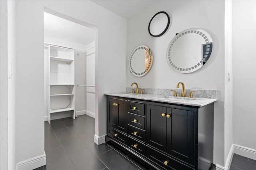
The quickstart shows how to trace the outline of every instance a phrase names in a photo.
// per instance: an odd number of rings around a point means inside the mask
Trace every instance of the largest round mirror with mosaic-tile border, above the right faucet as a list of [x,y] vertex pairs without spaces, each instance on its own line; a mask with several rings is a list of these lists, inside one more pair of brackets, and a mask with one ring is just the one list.
[[170,42],[166,59],[177,72],[190,73],[201,68],[212,53],[212,38],[199,28],[186,29]]

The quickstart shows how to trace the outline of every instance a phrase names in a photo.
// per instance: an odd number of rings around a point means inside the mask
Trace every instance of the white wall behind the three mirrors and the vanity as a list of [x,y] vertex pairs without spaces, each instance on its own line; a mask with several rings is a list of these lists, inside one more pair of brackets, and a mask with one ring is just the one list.
[[[137,82],[143,88],[176,88],[182,81],[186,89],[216,89],[218,101],[214,103],[214,163],[224,165],[224,1],[214,0],[160,0],[128,20],[128,50],[130,53],[138,45],[152,49],[153,65],[143,77],[130,73],[128,64],[127,84]],[[148,33],[148,23],[159,11],[165,11],[172,18],[170,29],[161,37]],[[167,47],[175,36],[188,28],[207,29],[213,39],[213,51],[208,62],[190,74],[175,72],[166,62]]]

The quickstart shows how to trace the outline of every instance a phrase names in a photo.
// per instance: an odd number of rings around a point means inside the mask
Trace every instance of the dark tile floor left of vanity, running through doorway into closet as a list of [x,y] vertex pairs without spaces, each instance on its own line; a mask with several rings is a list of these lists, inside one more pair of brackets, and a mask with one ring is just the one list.
[[46,166],[36,170],[146,170],[113,145],[96,145],[90,116],[45,122],[44,128]]

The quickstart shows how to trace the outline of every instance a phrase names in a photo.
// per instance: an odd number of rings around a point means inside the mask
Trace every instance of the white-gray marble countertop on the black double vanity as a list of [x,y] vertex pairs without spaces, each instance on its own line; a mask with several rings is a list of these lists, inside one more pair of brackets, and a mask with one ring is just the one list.
[[170,104],[182,104],[186,106],[206,106],[213,102],[216,102],[217,99],[208,99],[208,98],[188,98],[188,97],[173,97],[173,96],[164,96],[156,94],[134,94],[134,93],[106,93],[108,96],[116,96],[123,98],[132,98],[140,100],[149,100],[156,102],[164,102]]

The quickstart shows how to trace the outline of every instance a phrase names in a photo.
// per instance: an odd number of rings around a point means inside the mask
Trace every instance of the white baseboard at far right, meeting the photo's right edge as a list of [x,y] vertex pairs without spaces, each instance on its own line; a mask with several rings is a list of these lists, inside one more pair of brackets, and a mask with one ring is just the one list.
[[256,150],[234,144],[234,153],[256,160]]

